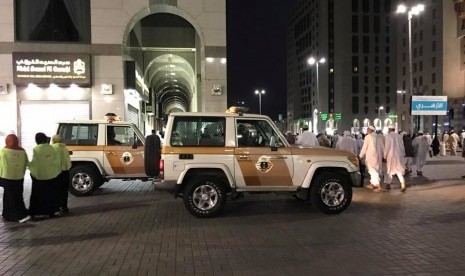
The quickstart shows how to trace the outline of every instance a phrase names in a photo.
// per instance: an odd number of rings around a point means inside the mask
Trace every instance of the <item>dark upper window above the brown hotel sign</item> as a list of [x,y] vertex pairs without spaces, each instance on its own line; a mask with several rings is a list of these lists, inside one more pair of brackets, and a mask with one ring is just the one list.
[[15,0],[17,41],[90,43],[90,0]]

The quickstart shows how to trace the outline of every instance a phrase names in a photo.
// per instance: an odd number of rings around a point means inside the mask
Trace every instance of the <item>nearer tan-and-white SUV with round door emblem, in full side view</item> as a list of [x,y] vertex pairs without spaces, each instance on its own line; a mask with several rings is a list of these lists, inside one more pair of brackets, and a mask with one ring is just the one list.
[[326,214],[344,211],[360,183],[357,156],[323,147],[294,147],[267,116],[172,113],[161,151],[160,181],[197,217],[217,215],[227,195],[290,193]]

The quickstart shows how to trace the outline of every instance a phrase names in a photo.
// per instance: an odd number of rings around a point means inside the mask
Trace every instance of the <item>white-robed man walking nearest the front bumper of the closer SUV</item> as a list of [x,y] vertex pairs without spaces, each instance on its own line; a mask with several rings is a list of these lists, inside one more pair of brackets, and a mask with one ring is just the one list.
[[373,126],[368,127],[359,157],[360,159],[365,158],[365,164],[370,174],[370,185],[368,185],[367,188],[374,189],[376,192],[381,191],[381,185],[379,183],[381,156],[378,151],[375,127]]

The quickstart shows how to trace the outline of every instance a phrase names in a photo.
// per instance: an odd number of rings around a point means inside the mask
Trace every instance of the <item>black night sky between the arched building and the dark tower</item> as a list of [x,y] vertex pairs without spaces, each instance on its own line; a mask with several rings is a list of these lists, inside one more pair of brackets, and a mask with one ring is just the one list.
[[287,17],[296,0],[227,0],[228,106],[244,101],[262,114],[286,117]]

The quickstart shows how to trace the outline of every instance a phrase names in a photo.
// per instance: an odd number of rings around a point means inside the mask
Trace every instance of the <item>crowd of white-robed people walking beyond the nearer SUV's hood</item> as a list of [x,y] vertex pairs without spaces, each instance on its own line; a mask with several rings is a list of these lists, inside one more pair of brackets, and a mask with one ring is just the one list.
[[[360,185],[364,186],[365,172],[368,172],[370,184],[366,187],[376,192],[381,191],[383,186],[385,189],[391,189],[395,175],[399,179],[401,191],[405,192],[407,185],[404,176],[411,174],[414,169],[418,176],[422,176],[428,153],[431,156],[439,153],[435,147],[436,142],[439,148],[437,138],[431,139],[430,135],[424,135],[422,131],[411,137],[405,131],[396,132],[393,125],[388,127],[387,134],[370,126],[366,135],[354,135],[350,131],[344,131],[342,136],[335,134],[331,137],[324,133],[315,135],[304,126],[301,134],[286,133],[286,139],[290,144],[298,146],[332,147],[353,153],[360,159]],[[450,148],[451,154],[455,155],[454,147]]]

